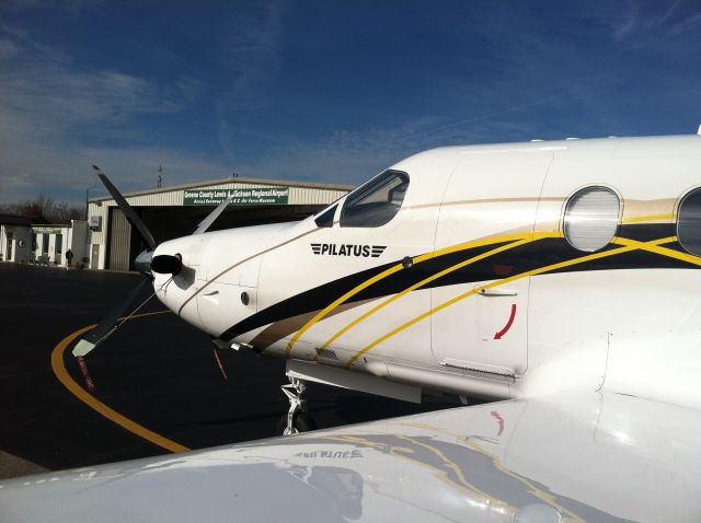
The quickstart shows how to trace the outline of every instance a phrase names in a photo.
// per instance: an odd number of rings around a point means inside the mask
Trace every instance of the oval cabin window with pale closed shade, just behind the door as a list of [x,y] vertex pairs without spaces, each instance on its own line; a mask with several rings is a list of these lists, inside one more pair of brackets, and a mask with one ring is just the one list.
[[620,209],[618,195],[607,187],[587,187],[575,193],[565,208],[565,239],[586,253],[606,247],[618,230]]

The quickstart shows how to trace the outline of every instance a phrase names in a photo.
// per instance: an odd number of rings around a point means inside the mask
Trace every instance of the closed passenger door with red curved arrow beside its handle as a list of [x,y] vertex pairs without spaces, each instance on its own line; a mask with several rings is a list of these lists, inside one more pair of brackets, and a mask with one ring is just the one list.
[[458,164],[436,236],[447,271],[432,295],[440,365],[495,377],[526,371],[531,233],[551,159],[542,151],[481,151]]

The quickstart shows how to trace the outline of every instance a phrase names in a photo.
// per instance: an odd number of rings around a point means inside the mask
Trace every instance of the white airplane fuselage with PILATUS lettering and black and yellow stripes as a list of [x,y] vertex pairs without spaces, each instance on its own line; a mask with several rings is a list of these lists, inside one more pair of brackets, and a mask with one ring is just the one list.
[[183,269],[153,284],[221,346],[343,386],[698,407],[700,186],[700,136],[436,149],[300,222],[165,242]]

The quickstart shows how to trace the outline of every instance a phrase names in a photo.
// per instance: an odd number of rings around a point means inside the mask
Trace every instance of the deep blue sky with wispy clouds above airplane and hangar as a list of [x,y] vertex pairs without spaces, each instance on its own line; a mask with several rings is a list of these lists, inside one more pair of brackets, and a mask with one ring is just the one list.
[[0,204],[699,124],[698,0],[0,3]]

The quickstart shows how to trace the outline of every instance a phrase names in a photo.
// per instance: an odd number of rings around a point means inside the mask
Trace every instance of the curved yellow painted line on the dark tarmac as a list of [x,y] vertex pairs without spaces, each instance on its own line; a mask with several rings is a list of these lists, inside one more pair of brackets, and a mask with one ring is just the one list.
[[[145,314],[137,314],[131,316],[131,318],[143,317],[143,316],[153,316],[156,314],[165,314],[170,311],[160,311],[160,312],[151,312]],[[107,418],[110,421],[117,423],[119,427],[128,430],[129,432],[138,435],[139,438],[143,438],[147,441],[150,441],[154,445],[160,446],[161,449],[165,449],[170,452],[186,452],[189,451],[188,448],[181,445],[180,443],[175,443],[168,438],[164,438],[160,434],[157,434],[152,430],[147,429],[146,427],[140,426],[136,421],[130,420],[126,416],[120,415],[116,410],[107,407],[104,403],[100,402],[92,394],[81,387],[76,381],[70,376],[66,367],[64,365],[64,352],[66,349],[70,347],[70,345],[81,335],[92,330],[96,327],[95,325],[89,325],[88,327],[83,327],[74,333],[66,336],[61,339],[54,350],[51,351],[51,369],[54,369],[54,373],[58,381],[60,381],[66,388],[70,391],[73,396],[83,402],[85,405],[91,407],[92,409],[100,412],[102,416]]]

